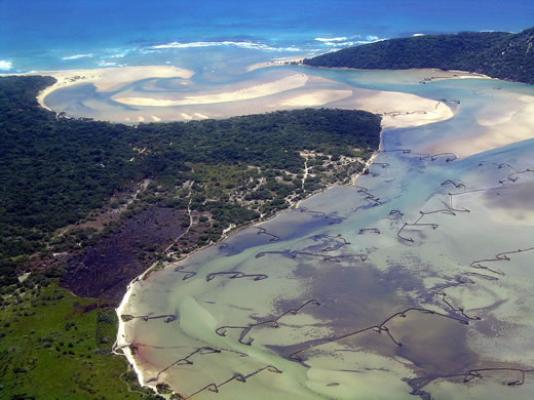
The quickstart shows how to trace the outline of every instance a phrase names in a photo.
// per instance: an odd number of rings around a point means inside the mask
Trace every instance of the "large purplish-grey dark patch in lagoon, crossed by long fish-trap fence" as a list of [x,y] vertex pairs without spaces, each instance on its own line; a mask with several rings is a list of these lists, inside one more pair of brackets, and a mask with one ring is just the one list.
[[[306,298],[321,303],[307,312],[328,321],[332,333],[298,345],[273,346],[284,357],[298,354],[297,360],[305,363],[322,345],[336,342],[354,351],[402,357],[425,376],[460,373],[477,364],[467,346],[465,319],[418,306],[407,293],[429,294],[421,280],[401,266],[382,272],[369,263],[323,263],[319,268],[300,264],[295,276],[309,282]],[[291,308],[302,300],[281,300],[277,308]]]

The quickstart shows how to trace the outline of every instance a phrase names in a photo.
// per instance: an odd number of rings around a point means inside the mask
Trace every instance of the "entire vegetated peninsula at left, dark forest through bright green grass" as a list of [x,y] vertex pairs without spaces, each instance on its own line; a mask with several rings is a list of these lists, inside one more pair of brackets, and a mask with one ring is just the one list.
[[37,104],[53,82],[0,78],[0,398],[154,397],[111,354],[127,283],[350,179],[379,144],[362,111],[72,119]]

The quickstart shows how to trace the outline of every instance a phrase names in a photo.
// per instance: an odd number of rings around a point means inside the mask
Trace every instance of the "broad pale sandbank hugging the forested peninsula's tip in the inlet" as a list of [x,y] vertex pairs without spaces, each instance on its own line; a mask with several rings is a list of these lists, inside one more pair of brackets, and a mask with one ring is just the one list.
[[165,120],[226,118],[266,111],[329,107],[360,109],[383,116],[385,128],[407,128],[444,121],[454,116],[441,101],[413,94],[355,88],[305,73],[273,74],[241,82],[212,93],[117,93],[113,100],[134,107],[149,107]]

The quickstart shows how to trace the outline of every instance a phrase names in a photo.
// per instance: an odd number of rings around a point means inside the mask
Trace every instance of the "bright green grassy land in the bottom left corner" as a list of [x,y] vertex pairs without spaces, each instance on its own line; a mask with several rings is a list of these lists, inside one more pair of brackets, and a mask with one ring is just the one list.
[[112,357],[116,315],[51,283],[19,287],[0,312],[0,398],[149,400]]

